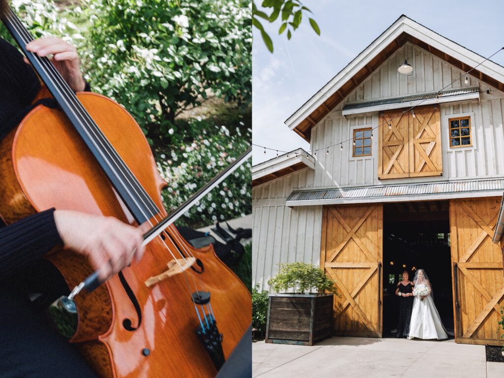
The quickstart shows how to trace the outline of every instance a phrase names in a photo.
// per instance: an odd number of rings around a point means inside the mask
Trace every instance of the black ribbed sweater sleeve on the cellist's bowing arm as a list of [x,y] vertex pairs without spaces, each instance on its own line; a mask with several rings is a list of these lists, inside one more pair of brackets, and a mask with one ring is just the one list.
[[0,280],[14,277],[62,244],[54,209],[42,211],[0,228]]

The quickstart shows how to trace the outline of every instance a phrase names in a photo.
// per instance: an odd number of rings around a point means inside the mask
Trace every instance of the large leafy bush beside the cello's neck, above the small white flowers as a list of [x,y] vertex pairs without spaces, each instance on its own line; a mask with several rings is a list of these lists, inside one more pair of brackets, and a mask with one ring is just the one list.
[[[209,95],[251,99],[251,15],[244,0],[87,0],[89,78],[173,142],[175,117]],[[158,133],[150,133],[155,125]]]

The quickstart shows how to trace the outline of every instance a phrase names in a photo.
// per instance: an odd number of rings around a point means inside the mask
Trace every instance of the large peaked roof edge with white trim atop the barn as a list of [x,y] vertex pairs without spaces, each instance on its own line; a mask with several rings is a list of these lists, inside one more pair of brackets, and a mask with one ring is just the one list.
[[[287,118],[285,124],[303,139],[309,141],[311,128],[406,42],[418,45],[464,72],[474,68],[485,59],[485,57],[402,15]],[[504,91],[504,67],[491,60],[486,60],[478,66],[471,72],[471,76]]]

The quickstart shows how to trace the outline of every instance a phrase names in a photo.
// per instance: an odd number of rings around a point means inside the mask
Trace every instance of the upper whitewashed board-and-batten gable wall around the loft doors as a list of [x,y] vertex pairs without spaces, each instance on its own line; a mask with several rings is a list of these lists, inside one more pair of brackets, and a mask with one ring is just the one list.
[[[397,72],[408,59],[413,66],[410,75]],[[377,131],[373,133],[371,156],[353,158],[352,142],[339,144],[353,137],[355,128],[377,127],[378,112],[364,115],[341,115],[346,103],[367,102],[401,96],[432,93],[464,87],[479,87],[480,101],[439,104],[441,114],[443,175],[438,177],[379,180],[377,177]],[[342,103],[332,109],[311,131],[311,150],[315,155],[314,187],[352,187],[422,181],[443,181],[504,176],[504,93],[489,87],[472,76],[464,83],[464,73],[428,51],[406,43],[382,66],[377,68]],[[486,91],[489,90],[490,94]],[[449,116],[471,115],[472,147],[449,147]],[[329,154],[326,154],[326,147]]]

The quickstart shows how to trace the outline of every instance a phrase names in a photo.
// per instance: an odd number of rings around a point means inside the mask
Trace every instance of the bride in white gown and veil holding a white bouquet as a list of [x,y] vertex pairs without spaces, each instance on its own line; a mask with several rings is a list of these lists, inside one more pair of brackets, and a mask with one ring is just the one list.
[[423,269],[419,269],[413,279],[415,289],[408,339],[448,339],[445,327],[432,300],[432,287]]

